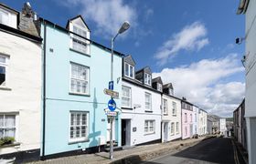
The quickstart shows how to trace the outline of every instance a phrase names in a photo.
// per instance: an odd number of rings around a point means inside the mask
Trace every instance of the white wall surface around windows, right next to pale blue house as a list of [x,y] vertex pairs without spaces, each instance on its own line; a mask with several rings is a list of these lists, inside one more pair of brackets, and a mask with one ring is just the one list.
[[[146,142],[154,141],[161,138],[161,94],[139,87],[132,83],[122,81],[122,85],[125,87],[131,87],[132,90],[132,108],[122,109],[122,119],[131,120],[131,145],[143,144]],[[144,93],[150,93],[152,95],[152,112],[145,112],[145,99]],[[134,105],[141,105],[141,108],[133,108]],[[144,121],[155,120],[155,133],[144,133]],[[133,131],[136,128],[136,131]],[[129,138],[126,136],[126,138]]]

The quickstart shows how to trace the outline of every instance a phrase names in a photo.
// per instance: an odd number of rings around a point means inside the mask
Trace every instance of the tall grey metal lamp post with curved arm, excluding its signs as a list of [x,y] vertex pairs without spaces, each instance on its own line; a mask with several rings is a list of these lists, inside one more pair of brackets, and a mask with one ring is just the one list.
[[[122,34],[124,31],[126,31],[128,28],[130,27],[129,22],[125,21],[123,23],[123,25],[120,27],[120,29],[118,30],[118,33],[112,37],[112,60],[111,60],[111,81],[113,81],[113,42],[114,39],[119,35]],[[112,97],[113,98],[113,97]],[[110,159],[112,159],[112,154],[113,154],[113,143],[112,143],[112,121],[113,121],[114,117],[110,116],[110,122],[111,122],[111,136],[110,136]]]

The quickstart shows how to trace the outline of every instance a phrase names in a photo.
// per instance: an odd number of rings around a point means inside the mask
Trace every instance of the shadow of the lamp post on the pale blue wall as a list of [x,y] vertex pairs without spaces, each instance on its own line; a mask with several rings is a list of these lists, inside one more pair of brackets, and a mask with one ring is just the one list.
[[99,140],[98,138],[101,136],[101,131],[96,131],[96,109],[98,108],[98,101],[97,101],[97,96],[96,96],[96,87],[94,87],[93,91],[93,103],[92,103],[92,108],[93,108],[93,118],[90,120],[90,123],[92,122],[92,132],[89,134],[89,139],[90,139],[90,145],[89,147],[96,147],[99,145]]

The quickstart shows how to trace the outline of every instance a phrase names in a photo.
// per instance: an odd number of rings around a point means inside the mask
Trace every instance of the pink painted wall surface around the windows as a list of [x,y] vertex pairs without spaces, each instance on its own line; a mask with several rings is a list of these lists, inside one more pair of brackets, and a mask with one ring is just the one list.
[[[190,133],[191,131],[191,126],[193,128],[193,120],[190,120],[190,114],[193,115],[193,111],[192,110],[187,110],[184,108],[181,108],[181,113],[182,113],[182,139],[185,138],[190,138],[192,137],[192,134]],[[186,118],[185,118],[185,114],[187,113],[187,122],[186,122]],[[186,128],[187,128],[187,135],[186,135]]]

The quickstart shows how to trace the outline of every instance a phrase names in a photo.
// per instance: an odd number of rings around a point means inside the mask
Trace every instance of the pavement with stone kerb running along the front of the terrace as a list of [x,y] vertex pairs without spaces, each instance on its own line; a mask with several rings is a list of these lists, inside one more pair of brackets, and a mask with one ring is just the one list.
[[44,161],[32,162],[34,164],[121,164],[121,163],[141,163],[164,156],[170,153],[176,153],[180,150],[187,149],[197,143],[212,136],[201,138],[189,138],[186,140],[176,140],[166,143],[157,143],[151,145],[137,146],[132,149],[124,149],[113,152],[113,159],[109,159],[108,152],[95,154],[84,154],[79,156],[64,157],[59,159],[48,159]]

